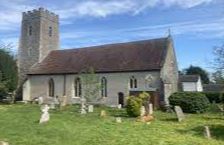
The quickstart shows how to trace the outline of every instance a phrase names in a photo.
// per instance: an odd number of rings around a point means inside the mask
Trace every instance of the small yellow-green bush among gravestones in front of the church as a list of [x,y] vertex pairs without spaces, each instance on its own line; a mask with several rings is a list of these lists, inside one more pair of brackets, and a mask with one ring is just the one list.
[[140,109],[142,106],[142,99],[135,96],[129,96],[127,98],[127,114],[130,117],[140,116]]

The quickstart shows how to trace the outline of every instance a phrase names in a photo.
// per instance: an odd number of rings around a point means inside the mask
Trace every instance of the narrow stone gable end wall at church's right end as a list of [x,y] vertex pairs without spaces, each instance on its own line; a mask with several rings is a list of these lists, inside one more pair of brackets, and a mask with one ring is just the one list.
[[171,37],[167,38],[167,53],[163,68],[161,70],[161,79],[163,82],[164,92],[161,96],[161,103],[169,104],[169,96],[178,91],[178,64]]

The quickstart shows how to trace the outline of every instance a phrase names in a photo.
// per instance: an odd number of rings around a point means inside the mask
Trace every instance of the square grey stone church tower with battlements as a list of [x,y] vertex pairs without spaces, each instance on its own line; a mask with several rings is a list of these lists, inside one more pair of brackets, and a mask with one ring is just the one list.
[[23,12],[18,52],[19,84],[31,66],[59,48],[59,17],[43,8]]

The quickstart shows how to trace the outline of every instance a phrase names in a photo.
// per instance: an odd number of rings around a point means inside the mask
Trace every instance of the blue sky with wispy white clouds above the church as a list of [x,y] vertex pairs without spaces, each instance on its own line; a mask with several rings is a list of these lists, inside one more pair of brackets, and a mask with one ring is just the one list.
[[0,0],[0,43],[17,52],[22,12],[44,7],[60,17],[61,49],[167,37],[179,69],[212,71],[224,43],[224,0]]

